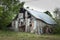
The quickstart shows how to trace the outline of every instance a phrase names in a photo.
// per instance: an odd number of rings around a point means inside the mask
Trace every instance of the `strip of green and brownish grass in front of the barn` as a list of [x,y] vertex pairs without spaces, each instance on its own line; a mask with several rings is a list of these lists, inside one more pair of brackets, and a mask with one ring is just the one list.
[[60,35],[37,35],[24,32],[0,30],[0,40],[60,40]]

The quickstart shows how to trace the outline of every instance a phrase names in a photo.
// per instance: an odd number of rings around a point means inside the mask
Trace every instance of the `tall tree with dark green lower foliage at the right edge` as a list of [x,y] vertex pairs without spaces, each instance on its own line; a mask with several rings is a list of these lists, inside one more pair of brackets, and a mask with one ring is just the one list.
[[56,27],[54,28],[54,33],[60,34],[60,8],[55,8],[54,13],[56,14],[55,21],[57,23]]

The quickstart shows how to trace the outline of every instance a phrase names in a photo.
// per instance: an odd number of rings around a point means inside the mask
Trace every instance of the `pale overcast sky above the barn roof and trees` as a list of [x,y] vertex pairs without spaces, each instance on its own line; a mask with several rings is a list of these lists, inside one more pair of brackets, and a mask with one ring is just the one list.
[[20,0],[25,1],[24,7],[44,12],[50,11],[51,13],[55,8],[60,8],[60,0]]

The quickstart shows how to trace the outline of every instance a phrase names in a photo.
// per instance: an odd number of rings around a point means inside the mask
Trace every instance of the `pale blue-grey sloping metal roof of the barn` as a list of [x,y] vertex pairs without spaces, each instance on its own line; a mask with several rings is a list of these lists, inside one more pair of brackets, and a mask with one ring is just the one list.
[[34,17],[46,22],[47,24],[56,24],[56,22],[46,13],[43,12],[39,12],[36,10],[32,10],[32,9],[26,9],[31,15],[33,15]]

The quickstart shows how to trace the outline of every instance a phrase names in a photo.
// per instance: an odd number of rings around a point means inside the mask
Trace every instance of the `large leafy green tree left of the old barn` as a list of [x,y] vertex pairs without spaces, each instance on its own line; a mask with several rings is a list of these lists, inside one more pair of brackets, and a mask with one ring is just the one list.
[[0,28],[5,29],[12,22],[23,4],[19,0],[0,0]]

